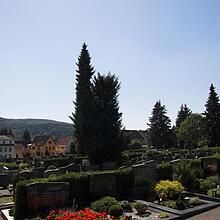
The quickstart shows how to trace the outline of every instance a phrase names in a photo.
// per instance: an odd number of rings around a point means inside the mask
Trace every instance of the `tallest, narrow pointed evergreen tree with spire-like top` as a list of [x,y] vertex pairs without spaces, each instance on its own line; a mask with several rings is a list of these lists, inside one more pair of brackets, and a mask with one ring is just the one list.
[[93,97],[91,92],[91,78],[94,68],[91,65],[91,57],[84,43],[77,63],[76,70],[76,101],[75,112],[70,116],[75,128],[74,134],[78,153],[86,155],[88,149],[93,146]]

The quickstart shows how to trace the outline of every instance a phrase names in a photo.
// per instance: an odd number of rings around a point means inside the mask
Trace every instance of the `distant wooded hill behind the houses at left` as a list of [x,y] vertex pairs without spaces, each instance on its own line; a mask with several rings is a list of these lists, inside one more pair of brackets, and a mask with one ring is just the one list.
[[21,138],[27,128],[31,136],[51,134],[59,137],[73,135],[73,125],[47,119],[7,119],[0,117],[0,129],[11,128],[16,138]]

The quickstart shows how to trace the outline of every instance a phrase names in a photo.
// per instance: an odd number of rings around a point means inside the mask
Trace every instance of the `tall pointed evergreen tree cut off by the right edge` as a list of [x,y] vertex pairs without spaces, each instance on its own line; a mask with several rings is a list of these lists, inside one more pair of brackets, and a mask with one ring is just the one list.
[[205,107],[204,115],[208,146],[220,146],[220,103],[213,84],[210,86],[209,97]]

